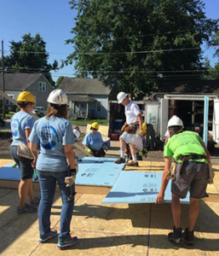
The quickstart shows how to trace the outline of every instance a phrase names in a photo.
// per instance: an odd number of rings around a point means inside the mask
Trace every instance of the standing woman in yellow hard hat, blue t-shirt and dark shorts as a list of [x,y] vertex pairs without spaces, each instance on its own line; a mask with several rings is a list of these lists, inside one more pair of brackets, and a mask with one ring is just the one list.
[[[20,183],[19,183],[19,206],[17,212],[31,213],[37,211],[39,199],[34,196],[32,190],[32,160],[21,157],[17,154],[19,143],[24,143],[29,147],[28,137],[32,131],[32,126],[35,119],[30,115],[35,104],[34,96],[29,91],[22,91],[17,98],[17,103],[20,106],[20,111],[14,113],[11,118],[10,126],[13,137],[13,142],[10,145],[10,154],[17,166],[20,168]],[[26,196],[30,198],[30,204],[26,204]]]

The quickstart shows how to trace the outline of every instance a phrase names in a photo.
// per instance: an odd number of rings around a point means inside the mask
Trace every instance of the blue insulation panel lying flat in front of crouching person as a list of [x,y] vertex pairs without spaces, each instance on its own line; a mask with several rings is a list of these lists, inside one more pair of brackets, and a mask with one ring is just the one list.
[[124,165],[114,163],[113,158],[78,158],[76,185],[112,187]]

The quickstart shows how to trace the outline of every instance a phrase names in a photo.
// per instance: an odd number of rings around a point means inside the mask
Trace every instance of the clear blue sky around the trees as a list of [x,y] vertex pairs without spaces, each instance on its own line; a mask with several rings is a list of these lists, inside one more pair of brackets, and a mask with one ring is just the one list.
[[[107,1],[107,0],[106,0]],[[61,60],[72,53],[72,45],[65,40],[72,38],[71,29],[74,25],[75,10],[70,9],[68,0],[1,0],[0,1],[0,39],[4,41],[4,50],[9,50],[9,41],[21,40],[27,32],[34,36],[40,33],[47,43],[49,63]],[[205,13],[208,18],[219,18],[219,0],[205,0]],[[7,52],[5,53],[7,54]],[[213,66],[218,58],[213,58],[214,51],[205,51]],[[73,66],[63,67],[53,74],[56,81],[59,76],[73,77]]]

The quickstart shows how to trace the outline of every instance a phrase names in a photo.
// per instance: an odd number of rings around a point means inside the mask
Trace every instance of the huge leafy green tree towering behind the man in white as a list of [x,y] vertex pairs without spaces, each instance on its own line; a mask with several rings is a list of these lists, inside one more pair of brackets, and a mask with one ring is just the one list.
[[62,67],[74,62],[78,77],[116,78],[130,93],[146,93],[161,79],[197,76],[202,68],[201,44],[217,27],[217,20],[206,18],[201,0],[72,0],[70,4],[78,10],[73,38],[66,40],[74,51]]

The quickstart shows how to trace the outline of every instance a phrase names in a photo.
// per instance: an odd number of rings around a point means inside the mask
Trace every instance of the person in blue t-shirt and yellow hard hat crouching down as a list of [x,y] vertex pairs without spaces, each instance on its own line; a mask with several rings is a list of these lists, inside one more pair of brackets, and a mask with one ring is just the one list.
[[93,154],[95,157],[102,157],[105,156],[105,151],[107,151],[108,148],[103,143],[101,132],[99,132],[99,124],[97,122],[94,122],[90,126],[89,133],[86,134],[83,140],[83,145],[85,150],[88,151],[89,154]]

